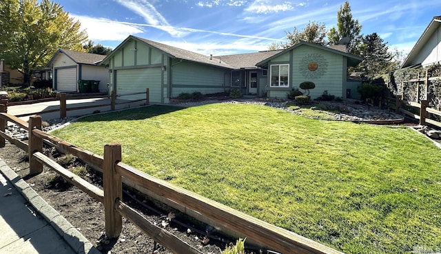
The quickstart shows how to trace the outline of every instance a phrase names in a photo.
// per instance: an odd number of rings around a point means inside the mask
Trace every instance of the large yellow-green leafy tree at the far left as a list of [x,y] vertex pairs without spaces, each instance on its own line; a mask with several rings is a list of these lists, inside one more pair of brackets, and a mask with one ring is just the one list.
[[2,0],[0,58],[29,84],[32,70],[45,66],[57,49],[83,51],[88,34],[80,26],[53,1]]

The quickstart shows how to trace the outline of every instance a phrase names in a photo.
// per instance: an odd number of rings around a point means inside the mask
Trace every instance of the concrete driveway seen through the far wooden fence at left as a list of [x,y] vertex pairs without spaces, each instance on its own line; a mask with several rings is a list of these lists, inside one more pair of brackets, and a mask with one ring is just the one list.
[[[130,103],[124,103],[127,102],[125,100],[116,100],[115,109],[120,110],[124,108],[135,108],[137,106],[141,106],[145,104],[145,101],[140,102],[130,102]],[[120,104],[119,104],[120,103]],[[109,106],[99,106],[103,104],[109,104]],[[97,106],[93,108],[85,108],[85,109],[79,109],[74,111],[67,111],[66,116],[67,117],[80,117],[83,115],[90,115],[94,112],[106,112],[110,111],[110,99],[108,98],[90,98],[90,99],[77,99],[77,100],[66,100],[66,107],[74,108],[79,106]],[[52,109],[60,109],[60,102],[59,101],[52,101],[52,102],[39,102],[34,104],[25,104],[25,105],[17,105],[17,106],[8,106],[8,114],[10,115],[23,115],[28,113],[35,113],[35,115],[40,115],[41,119],[43,121],[48,121],[50,119],[59,119],[60,118],[60,112],[53,112],[53,113],[45,113],[45,114],[39,114],[37,112],[41,111],[48,111]],[[27,117],[19,117],[20,119],[24,121],[29,120],[29,116]]]

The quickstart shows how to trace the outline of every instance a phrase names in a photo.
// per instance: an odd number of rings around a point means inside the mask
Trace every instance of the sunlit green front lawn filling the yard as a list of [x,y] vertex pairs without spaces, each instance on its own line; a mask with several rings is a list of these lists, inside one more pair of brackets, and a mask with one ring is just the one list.
[[409,128],[266,106],[150,106],[54,135],[345,253],[441,248],[441,152]]

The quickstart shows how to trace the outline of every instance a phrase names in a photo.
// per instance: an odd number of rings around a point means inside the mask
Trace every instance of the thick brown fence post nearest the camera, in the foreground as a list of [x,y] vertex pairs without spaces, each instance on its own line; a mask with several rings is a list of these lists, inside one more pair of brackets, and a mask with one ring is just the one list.
[[115,165],[121,161],[121,145],[110,143],[104,146],[103,189],[105,234],[109,238],[117,238],[122,230],[123,219],[114,208],[115,200],[123,200],[123,184],[121,175],[115,171]]

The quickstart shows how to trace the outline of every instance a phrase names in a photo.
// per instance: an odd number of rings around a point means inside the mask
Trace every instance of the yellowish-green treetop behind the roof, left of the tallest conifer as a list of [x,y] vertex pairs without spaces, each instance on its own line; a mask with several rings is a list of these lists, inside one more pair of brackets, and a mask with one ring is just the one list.
[[287,49],[292,45],[300,43],[300,41],[306,41],[308,43],[316,43],[325,45],[326,26],[323,23],[316,21],[309,21],[306,27],[300,31],[297,27],[294,27],[293,32],[285,32],[287,41],[285,43],[272,43],[269,49]]

